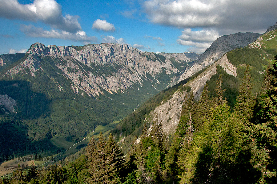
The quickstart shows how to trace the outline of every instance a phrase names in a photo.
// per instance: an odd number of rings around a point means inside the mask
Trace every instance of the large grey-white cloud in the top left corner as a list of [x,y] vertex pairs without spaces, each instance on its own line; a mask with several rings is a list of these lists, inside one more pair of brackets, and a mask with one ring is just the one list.
[[30,4],[20,4],[17,0],[0,0],[0,17],[42,21],[56,29],[76,33],[81,29],[78,16],[62,16],[61,6],[54,0],[34,0]]

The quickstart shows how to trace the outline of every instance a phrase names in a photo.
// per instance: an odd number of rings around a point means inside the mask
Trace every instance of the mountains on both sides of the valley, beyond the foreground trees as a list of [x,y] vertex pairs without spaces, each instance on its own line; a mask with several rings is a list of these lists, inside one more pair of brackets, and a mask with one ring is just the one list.
[[[201,55],[141,52],[124,44],[77,47],[35,43],[25,55],[0,55],[0,113],[17,119],[30,141],[64,136],[77,142],[96,126],[121,120],[132,111],[129,116],[144,114],[135,121],[137,124],[123,119],[117,125],[114,133],[117,137],[123,135],[118,138],[121,143],[129,144],[134,134],[139,135],[143,122],[151,127],[156,114],[165,133],[171,134],[178,124],[188,86],[199,99],[206,82],[212,84],[213,76],[225,72],[238,88],[246,64],[253,68],[255,82],[262,80],[263,71],[276,53],[274,28],[263,35],[219,37]],[[153,99],[153,95],[156,103],[149,112],[143,109],[143,102]],[[128,132],[122,128],[127,126],[132,127]]]

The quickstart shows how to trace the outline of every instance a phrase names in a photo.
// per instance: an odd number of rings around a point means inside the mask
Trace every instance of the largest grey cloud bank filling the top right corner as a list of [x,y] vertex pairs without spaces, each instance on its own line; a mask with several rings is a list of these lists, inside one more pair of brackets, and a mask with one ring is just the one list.
[[[143,8],[153,23],[178,28],[217,28],[225,33],[263,32],[276,22],[276,0],[148,0]],[[242,19],[243,17],[243,19]]]

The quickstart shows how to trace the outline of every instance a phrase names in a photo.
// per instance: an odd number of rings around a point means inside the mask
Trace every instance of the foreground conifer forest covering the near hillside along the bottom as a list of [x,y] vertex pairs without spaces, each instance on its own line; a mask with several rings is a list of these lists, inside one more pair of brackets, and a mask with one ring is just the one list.
[[[65,166],[14,172],[4,183],[275,183],[277,125],[277,56],[268,65],[259,95],[253,94],[251,68],[245,67],[233,107],[223,97],[223,78],[216,80],[216,95],[208,85],[199,102],[191,91],[184,99],[172,141],[156,116],[151,132],[146,124],[138,142],[122,157],[113,135],[91,138],[86,153]],[[255,97],[256,96],[256,97]],[[55,168],[55,169],[54,169]],[[55,177],[48,180],[50,175]],[[31,179],[32,178],[32,179]]]

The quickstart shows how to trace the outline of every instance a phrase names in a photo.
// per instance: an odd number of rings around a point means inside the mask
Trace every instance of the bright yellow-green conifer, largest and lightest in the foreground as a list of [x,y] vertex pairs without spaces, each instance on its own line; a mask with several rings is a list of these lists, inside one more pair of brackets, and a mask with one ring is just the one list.
[[204,122],[203,129],[195,135],[194,143],[182,158],[180,183],[255,183],[257,177],[253,176],[251,164],[240,161],[243,124],[239,117],[232,114],[224,102],[211,109],[211,115]]

